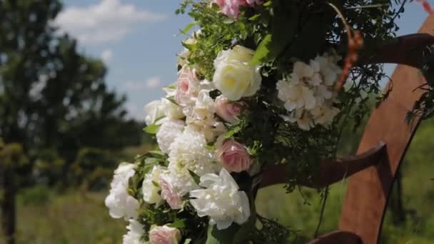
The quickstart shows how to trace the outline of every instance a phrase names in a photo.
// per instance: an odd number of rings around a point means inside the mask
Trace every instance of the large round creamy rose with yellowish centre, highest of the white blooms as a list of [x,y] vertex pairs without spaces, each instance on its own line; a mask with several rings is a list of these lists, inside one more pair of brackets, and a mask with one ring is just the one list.
[[248,64],[254,51],[243,46],[221,51],[214,61],[213,83],[223,96],[231,101],[253,96],[261,86],[261,73],[258,66]]

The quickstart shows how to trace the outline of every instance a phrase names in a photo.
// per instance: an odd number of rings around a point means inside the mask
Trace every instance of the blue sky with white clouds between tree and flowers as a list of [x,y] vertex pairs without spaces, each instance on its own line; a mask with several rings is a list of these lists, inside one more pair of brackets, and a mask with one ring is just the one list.
[[[179,4],[181,0],[64,0],[56,23],[79,39],[84,54],[104,59],[107,83],[128,96],[130,116],[143,120],[143,106],[176,80],[183,39],[178,32],[191,22],[174,14]],[[407,4],[398,34],[414,33],[427,16],[419,4]]]

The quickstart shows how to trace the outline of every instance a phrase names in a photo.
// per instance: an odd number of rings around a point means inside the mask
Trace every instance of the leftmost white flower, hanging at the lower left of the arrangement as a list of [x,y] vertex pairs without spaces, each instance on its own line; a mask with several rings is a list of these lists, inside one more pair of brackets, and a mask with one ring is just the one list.
[[136,198],[128,194],[128,180],[134,176],[136,165],[131,163],[121,163],[114,171],[111,189],[106,197],[105,203],[109,208],[112,218],[137,218],[139,203]]

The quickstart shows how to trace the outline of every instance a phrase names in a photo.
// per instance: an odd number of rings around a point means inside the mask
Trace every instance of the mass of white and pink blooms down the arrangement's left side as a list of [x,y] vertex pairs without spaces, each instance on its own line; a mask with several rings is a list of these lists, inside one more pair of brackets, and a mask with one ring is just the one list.
[[[176,84],[165,89],[166,97],[145,106],[146,123],[158,127],[156,140],[168,158],[144,173],[140,199],[144,204],[158,208],[167,203],[171,210],[182,210],[189,203],[199,217],[209,216],[209,223],[218,229],[248,220],[248,197],[230,172],[248,171],[253,158],[225,133],[245,109],[238,99],[255,95],[261,86],[259,67],[248,64],[253,54],[243,46],[221,51],[212,82],[200,80],[195,69],[183,66]],[[216,89],[221,94],[212,98],[210,93]],[[140,240],[144,234],[138,221],[139,200],[128,193],[128,180],[136,167],[119,166],[106,198],[111,213],[116,212],[113,217],[130,220],[124,243]],[[151,243],[168,238],[168,243],[176,243],[181,232],[164,225],[152,228],[147,236]]]

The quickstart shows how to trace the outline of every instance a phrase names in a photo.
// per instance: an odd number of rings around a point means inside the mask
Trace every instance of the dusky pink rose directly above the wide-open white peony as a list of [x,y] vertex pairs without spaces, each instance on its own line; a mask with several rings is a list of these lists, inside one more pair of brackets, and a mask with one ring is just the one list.
[[247,171],[253,163],[246,148],[232,139],[224,141],[217,153],[221,165],[229,172]]

